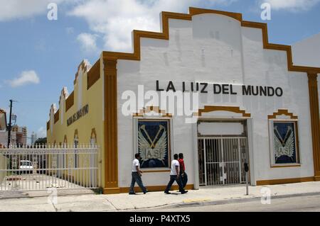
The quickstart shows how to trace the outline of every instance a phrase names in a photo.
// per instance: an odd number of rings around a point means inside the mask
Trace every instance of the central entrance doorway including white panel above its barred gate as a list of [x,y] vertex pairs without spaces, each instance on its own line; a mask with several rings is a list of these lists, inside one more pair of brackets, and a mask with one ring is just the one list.
[[199,185],[245,183],[247,147],[245,120],[198,122]]

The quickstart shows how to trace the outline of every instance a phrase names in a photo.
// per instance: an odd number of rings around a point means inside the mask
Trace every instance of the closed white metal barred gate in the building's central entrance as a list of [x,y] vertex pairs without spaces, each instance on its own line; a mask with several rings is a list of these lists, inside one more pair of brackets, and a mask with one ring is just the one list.
[[245,183],[247,137],[199,137],[201,186]]

